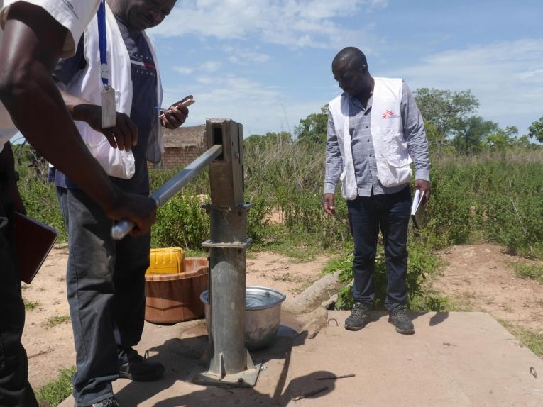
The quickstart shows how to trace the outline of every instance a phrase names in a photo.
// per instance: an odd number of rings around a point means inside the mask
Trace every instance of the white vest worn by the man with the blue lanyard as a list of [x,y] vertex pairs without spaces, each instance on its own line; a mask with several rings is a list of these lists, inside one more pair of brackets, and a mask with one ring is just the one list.
[[[114,14],[106,3],[106,35],[107,35],[107,61],[109,65],[109,84],[115,89],[116,111],[126,113],[130,116],[132,110],[132,67],[130,56],[124,45],[123,36],[117,25]],[[158,61],[155,55],[153,44],[150,42],[146,33],[144,38],[148,43],[151,55],[155,62],[157,72],[157,106],[162,106],[162,84],[158,69]],[[101,65],[99,52],[98,19],[92,18],[89,26],[84,31],[84,58],[87,65],[81,74],[75,76],[72,81],[65,85],[58,83],[58,87],[67,91],[69,94],[87,99],[92,104],[101,105],[101,93],[104,85],[101,79]],[[92,130],[85,122],[75,121],[75,125],[81,133],[84,142],[87,145],[97,145],[104,140],[104,135]],[[163,152],[162,144],[162,126],[160,119],[157,118],[149,135],[147,146],[147,159],[152,162],[159,162],[160,155]],[[103,164],[102,164],[103,165]],[[107,171],[107,169],[106,169]]]

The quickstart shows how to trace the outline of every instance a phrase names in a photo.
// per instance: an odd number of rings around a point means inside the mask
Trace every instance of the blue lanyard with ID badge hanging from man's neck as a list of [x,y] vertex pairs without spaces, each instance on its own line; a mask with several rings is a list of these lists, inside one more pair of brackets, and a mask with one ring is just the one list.
[[102,128],[115,126],[116,104],[115,89],[109,84],[109,65],[107,63],[107,37],[106,37],[106,4],[102,0],[98,9],[98,40],[100,48],[100,65],[102,71]]

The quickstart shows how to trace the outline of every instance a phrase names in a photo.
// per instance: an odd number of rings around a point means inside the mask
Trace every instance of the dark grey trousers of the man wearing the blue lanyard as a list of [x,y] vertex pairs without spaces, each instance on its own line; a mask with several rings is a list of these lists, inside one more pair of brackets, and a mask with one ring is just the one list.
[[111,238],[112,222],[79,189],[57,188],[68,229],[67,296],[74,331],[77,406],[113,396],[123,348],[141,339],[150,233]]

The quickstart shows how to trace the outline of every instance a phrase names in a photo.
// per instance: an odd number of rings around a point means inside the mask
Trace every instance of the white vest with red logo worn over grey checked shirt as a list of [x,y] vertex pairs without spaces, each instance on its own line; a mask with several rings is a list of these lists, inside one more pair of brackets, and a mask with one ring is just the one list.
[[[373,104],[371,106],[371,138],[375,150],[377,178],[383,186],[406,184],[411,178],[412,163],[403,134],[400,115],[402,79],[373,78]],[[351,134],[349,133],[349,96],[338,96],[329,103],[343,160],[341,194],[353,200],[358,196],[354,172]]]

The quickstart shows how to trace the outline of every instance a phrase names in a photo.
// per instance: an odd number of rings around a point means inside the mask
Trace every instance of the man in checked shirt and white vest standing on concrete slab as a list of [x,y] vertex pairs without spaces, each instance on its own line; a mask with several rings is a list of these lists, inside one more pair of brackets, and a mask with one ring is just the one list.
[[415,189],[430,197],[429,152],[424,123],[402,79],[372,77],[366,56],[344,48],[332,62],[343,94],[329,103],[326,174],[322,207],[335,215],[334,192],[341,180],[354,240],[353,308],[348,330],[370,320],[379,230],[385,244],[388,322],[399,333],[415,333],[407,315],[407,225],[410,219],[411,163]]

